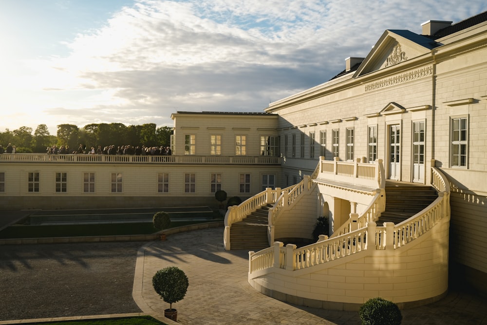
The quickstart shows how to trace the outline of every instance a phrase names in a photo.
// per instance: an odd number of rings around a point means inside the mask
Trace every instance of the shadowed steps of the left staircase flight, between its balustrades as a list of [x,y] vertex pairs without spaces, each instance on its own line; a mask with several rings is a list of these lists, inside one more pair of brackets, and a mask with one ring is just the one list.
[[260,250],[269,247],[267,239],[267,216],[269,208],[266,205],[252,212],[242,221],[232,224],[230,228],[230,238],[232,239],[232,249],[251,249]]

